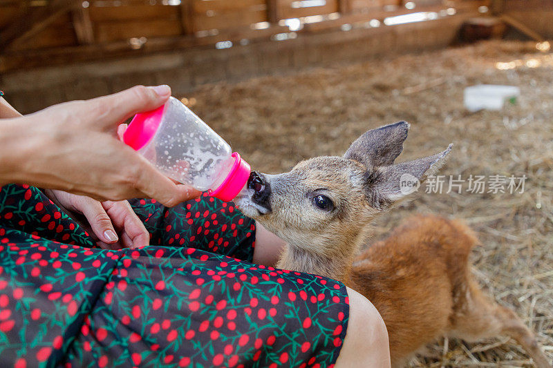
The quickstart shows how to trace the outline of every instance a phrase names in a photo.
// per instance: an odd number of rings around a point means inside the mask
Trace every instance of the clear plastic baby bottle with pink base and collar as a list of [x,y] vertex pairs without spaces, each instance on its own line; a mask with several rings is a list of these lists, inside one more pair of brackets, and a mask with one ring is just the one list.
[[228,202],[244,188],[250,165],[178,99],[135,115],[123,142],[168,177]]

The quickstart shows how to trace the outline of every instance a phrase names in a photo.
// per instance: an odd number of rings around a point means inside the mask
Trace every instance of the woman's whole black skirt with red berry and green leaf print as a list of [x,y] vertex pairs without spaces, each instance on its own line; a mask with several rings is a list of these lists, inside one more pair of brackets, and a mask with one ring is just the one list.
[[0,189],[0,367],[332,367],[344,284],[252,264],[232,203],[131,204],[153,245],[110,251],[39,189]]

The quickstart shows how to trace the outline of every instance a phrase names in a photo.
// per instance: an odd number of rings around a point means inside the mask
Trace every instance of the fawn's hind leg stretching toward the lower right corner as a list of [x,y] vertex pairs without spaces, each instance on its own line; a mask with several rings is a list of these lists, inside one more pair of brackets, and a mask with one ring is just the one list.
[[534,360],[538,368],[551,368],[547,357],[543,353],[536,336],[514,311],[505,308],[487,298],[476,286],[476,282],[469,281],[466,297],[459,300],[453,336],[464,340],[478,340],[498,335],[514,338]]

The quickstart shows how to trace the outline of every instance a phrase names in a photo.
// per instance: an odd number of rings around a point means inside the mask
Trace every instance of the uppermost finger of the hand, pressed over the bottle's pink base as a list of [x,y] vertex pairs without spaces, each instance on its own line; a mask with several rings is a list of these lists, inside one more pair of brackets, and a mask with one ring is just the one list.
[[171,96],[171,88],[165,84],[155,87],[135,86],[113,95],[98,97],[86,101],[97,114],[106,112],[103,128],[113,128],[125,119],[165,104]]

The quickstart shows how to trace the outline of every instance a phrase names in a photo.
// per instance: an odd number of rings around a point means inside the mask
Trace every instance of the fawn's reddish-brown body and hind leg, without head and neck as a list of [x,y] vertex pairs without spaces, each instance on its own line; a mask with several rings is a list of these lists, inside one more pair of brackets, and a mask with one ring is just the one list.
[[475,244],[462,222],[420,215],[356,258],[348,286],[382,315],[394,367],[440,336],[478,340],[501,333],[523,345],[537,367],[550,367],[515,313],[478,288],[469,269]]

